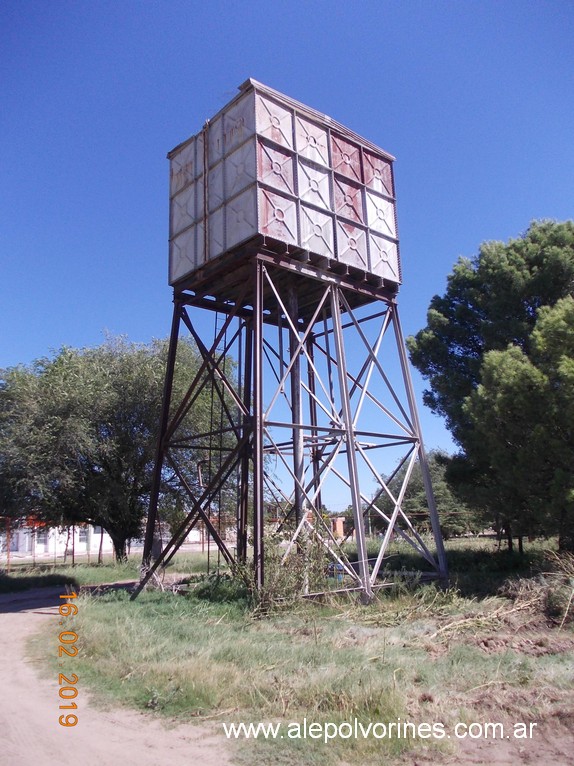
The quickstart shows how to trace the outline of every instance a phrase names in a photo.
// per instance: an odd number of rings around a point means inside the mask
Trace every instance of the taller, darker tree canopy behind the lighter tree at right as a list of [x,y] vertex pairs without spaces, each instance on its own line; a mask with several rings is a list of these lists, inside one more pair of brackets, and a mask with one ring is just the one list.
[[573,221],[536,222],[508,244],[487,242],[475,258],[459,259],[445,294],[431,300],[427,326],[407,345],[430,384],[425,404],[461,446],[472,428],[464,400],[480,382],[485,354],[512,343],[529,355],[538,310],[573,290]]

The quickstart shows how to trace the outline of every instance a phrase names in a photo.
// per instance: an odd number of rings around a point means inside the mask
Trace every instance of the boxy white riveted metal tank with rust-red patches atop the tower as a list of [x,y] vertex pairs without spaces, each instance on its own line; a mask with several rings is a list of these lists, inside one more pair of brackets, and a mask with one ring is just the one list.
[[398,286],[393,157],[248,80],[170,159],[171,284],[264,236]]

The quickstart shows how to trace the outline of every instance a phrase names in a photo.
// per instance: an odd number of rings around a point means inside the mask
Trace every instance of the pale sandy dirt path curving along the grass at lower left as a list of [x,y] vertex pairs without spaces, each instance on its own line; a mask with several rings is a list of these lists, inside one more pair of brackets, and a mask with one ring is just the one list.
[[58,716],[58,678],[43,678],[25,656],[25,641],[46,620],[58,629],[61,588],[0,596],[1,766],[220,766],[229,764],[225,741],[213,730],[166,729],[136,712],[91,707],[78,683],[78,724]]

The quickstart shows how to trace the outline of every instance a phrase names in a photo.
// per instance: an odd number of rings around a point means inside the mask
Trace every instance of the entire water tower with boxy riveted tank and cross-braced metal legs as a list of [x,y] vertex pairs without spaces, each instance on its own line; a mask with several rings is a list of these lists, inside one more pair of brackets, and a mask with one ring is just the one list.
[[[445,579],[397,309],[393,157],[251,79],[168,157],[174,312],[137,592],[198,525],[232,566],[252,551],[258,586],[274,529],[281,556],[313,541],[341,587],[367,599],[391,541]],[[202,364],[174,401],[182,332]],[[182,436],[206,390],[217,417]],[[428,503],[416,523],[403,508],[415,469]],[[185,518],[152,564],[166,471],[184,490]],[[352,511],[356,561],[325,512],[333,504]]]

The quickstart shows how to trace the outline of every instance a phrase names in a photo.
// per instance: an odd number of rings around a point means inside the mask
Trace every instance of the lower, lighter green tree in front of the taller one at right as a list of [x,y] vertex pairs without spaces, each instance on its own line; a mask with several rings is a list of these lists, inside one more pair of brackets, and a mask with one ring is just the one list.
[[475,476],[495,480],[504,526],[558,533],[560,548],[574,550],[572,297],[540,309],[530,356],[513,345],[485,355],[464,409]]

